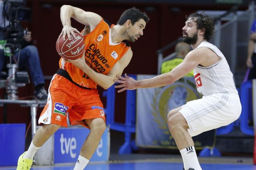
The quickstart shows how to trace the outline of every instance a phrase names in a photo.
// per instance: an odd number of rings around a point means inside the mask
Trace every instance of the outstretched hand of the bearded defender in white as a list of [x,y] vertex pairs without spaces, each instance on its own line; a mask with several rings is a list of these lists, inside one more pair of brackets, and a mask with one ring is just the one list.
[[116,76],[119,80],[114,80],[115,82],[121,83],[121,85],[116,85],[115,88],[122,88],[121,90],[118,90],[118,93],[123,92],[125,90],[134,90],[137,88],[137,80],[134,80],[133,78],[129,77],[125,73],[125,77]]

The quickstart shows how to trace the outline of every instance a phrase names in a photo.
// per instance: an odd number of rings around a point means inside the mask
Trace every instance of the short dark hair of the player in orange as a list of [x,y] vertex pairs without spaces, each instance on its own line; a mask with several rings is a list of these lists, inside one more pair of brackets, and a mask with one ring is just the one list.
[[117,24],[122,26],[123,24],[125,24],[127,20],[131,20],[131,24],[134,25],[135,22],[137,22],[140,19],[145,20],[146,23],[149,22],[149,17],[145,12],[142,12],[141,10],[135,7],[132,7],[128,10],[125,10],[125,12],[123,12]]

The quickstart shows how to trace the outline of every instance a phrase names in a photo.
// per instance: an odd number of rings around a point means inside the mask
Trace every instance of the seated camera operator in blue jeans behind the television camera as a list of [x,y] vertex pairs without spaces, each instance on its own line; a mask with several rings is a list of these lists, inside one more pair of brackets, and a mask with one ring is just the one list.
[[[8,23],[4,23],[2,12],[3,12],[3,0],[0,0],[0,27],[4,27],[6,24],[8,24]],[[20,29],[23,30],[21,24],[19,24],[19,27]],[[4,42],[5,40],[6,40],[5,32],[0,30],[0,41]],[[36,46],[32,45],[32,37],[31,37],[30,31],[28,31],[27,34],[23,36],[19,44],[21,44],[20,56],[18,51],[16,51],[14,55],[16,60],[18,59],[18,56],[19,56],[19,68],[28,67],[32,82],[35,86],[35,92],[34,92],[35,97],[39,100],[47,100],[48,94],[44,88],[45,81],[43,78],[42,68],[40,66],[39,54]],[[2,71],[6,58],[7,57],[4,56],[3,44],[2,44],[2,48],[0,45],[0,71]]]

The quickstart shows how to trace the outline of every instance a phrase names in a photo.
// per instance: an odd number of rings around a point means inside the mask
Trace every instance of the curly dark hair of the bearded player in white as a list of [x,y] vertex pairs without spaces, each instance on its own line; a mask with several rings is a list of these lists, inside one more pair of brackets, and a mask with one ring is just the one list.
[[186,16],[186,19],[192,19],[197,24],[197,29],[205,29],[204,39],[207,41],[211,39],[214,32],[213,18],[202,12],[201,14],[190,14]]

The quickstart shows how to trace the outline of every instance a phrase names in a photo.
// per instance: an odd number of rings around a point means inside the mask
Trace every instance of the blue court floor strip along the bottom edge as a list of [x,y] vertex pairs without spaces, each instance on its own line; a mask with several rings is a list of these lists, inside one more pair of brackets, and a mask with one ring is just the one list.
[[[182,163],[127,162],[89,164],[85,170],[182,170]],[[256,170],[256,165],[201,163],[203,170]],[[74,166],[35,166],[31,170],[73,170]],[[16,167],[2,167],[0,170],[16,170]]]

